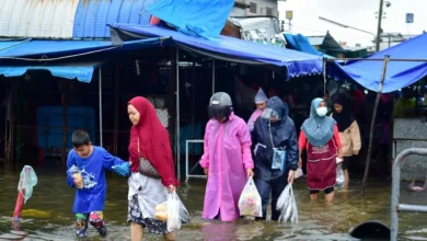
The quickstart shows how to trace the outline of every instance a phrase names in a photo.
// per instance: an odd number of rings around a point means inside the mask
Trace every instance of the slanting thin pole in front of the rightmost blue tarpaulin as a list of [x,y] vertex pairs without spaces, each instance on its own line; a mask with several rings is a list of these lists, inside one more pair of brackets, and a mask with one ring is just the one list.
[[374,127],[376,127],[378,104],[380,103],[381,92],[382,92],[382,88],[384,85],[385,72],[386,72],[386,68],[389,66],[389,60],[390,60],[390,55],[386,55],[384,57],[384,62],[383,62],[383,66],[382,66],[382,73],[381,73],[381,79],[380,79],[380,85],[378,87],[376,104],[373,106],[371,129],[370,129],[370,133],[369,133],[368,157],[366,159],[363,181],[361,182],[361,192],[360,192],[361,197],[365,197],[365,187],[366,187],[366,183],[367,183],[367,180],[368,180],[369,164],[370,164],[370,161],[371,161],[371,153],[372,153],[372,139],[373,139],[373,130],[374,130]]

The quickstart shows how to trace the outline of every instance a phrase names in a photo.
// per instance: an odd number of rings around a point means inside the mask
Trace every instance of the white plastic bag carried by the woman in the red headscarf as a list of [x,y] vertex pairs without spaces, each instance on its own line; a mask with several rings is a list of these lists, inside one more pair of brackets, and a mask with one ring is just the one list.
[[168,215],[166,223],[168,231],[173,232],[181,229],[183,222],[189,221],[189,215],[187,209],[184,207],[184,204],[181,202],[178,195],[175,192],[172,192],[168,196]]

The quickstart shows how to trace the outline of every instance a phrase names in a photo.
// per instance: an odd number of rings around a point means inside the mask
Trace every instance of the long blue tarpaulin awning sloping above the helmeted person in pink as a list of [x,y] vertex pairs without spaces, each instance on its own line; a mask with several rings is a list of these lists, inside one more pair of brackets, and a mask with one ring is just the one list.
[[170,36],[172,42],[178,45],[178,47],[217,59],[286,67],[288,79],[290,77],[321,73],[323,71],[321,57],[277,46],[263,45],[222,35],[217,41],[208,41],[159,26],[115,24],[113,28],[123,34],[139,35],[140,37]]

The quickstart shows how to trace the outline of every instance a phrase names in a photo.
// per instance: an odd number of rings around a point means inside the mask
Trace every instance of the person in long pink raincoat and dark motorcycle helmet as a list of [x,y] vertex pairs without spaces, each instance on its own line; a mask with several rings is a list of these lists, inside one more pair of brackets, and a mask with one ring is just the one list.
[[234,115],[230,95],[211,96],[200,165],[208,177],[203,218],[232,221],[240,217],[239,197],[253,176],[251,135],[246,123]]

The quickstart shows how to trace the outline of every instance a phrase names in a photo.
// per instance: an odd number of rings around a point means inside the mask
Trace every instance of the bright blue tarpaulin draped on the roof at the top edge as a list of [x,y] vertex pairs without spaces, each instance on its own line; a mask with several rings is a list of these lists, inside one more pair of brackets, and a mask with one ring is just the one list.
[[233,5],[234,0],[158,0],[147,11],[187,35],[214,39]]

